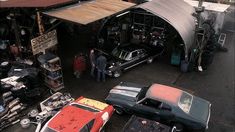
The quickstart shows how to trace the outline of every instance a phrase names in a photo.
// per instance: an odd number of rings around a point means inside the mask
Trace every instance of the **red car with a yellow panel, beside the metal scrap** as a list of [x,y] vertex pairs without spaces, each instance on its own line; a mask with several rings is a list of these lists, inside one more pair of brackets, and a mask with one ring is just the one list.
[[99,132],[113,112],[111,105],[80,97],[53,116],[41,132]]

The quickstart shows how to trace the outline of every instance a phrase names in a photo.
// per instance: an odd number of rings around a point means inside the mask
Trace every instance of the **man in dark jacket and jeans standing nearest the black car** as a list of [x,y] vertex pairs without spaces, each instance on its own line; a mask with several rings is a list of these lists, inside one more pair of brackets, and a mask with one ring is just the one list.
[[96,65],[97,65],[97,81],[100,81],[100,76],[102,75],[102,81],[105,82],[105,68],[107,64],[107,59],[106,57],[102,54],[99,53],[99,57],[96,60]]

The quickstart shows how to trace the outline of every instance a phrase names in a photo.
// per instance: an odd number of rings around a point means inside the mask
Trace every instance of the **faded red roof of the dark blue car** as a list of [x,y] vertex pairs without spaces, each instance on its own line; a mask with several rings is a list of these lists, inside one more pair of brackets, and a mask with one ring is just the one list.
[[153,84],[150,86],[146,93],[146,97],[165,102],[171,105],[178,105],[178,101],[182,95],[183,91],[174,87]]

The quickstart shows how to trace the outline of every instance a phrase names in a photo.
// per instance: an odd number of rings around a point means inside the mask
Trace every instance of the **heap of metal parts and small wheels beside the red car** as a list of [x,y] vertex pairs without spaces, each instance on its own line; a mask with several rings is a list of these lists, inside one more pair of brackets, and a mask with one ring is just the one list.
[[40,103],[40,111],[33,109],[28,113],[28,117],[20,121],[22,128],[28,128],[30,124],[36,124],[35,132],[41,130],[42,124],[45,124],[50,117],[54,116],[65,105],[74,101],[68,93],[57,92]]

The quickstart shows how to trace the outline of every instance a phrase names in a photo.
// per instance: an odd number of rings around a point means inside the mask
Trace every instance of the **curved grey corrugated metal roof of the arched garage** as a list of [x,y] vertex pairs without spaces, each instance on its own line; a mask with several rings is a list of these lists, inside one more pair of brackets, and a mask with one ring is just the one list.
[[183,0],[152,0],[136,6],[155,14],[172,25],[181,36],[185,44],[185,55],[194,43],[195,9]]

